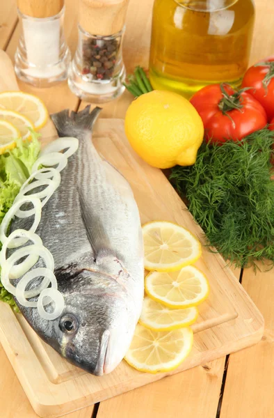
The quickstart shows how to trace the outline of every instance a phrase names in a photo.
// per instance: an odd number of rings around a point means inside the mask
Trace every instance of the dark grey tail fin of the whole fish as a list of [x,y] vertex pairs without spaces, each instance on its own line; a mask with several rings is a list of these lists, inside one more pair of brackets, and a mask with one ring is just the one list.
[[101,107],[95,107],[90,112],[90,105],[79,112],[73,110],[70,112],[69,109],[65,109],[56,114],[51,114],[51,119],[59,137],[76,137],[81,130],[83,132],[92,130],[92,126],[101,110]]

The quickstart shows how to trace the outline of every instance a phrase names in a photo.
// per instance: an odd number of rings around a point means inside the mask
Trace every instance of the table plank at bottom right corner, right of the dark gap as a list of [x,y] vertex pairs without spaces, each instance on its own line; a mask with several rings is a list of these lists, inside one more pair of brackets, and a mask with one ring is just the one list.
[[[263,268],[263,266],[261,266]],[[230,356],[220,418],[274,417],[274,272],[243,272],[243,287],[265,319],[262,340]]]

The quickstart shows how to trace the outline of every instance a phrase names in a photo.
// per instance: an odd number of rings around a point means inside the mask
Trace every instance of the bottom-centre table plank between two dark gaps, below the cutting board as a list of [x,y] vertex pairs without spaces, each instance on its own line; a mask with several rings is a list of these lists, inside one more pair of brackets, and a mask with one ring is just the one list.
[[225,357],[101,402],[97,418],[215,418]]

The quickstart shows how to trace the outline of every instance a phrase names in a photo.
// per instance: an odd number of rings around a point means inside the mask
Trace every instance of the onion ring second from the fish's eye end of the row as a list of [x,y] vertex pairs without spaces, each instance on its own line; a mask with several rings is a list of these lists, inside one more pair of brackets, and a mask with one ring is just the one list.
[[[35,279],[36,277],[44,277],[42,282],[31,289],[31,291],[26,291],[26,286]],[[26,298],[38,296],[49,284],[51,283],[51,288],[57,289],[57,281],[54,275],[54,272],[48,268],[35,268],[24,274],[22,279],[16,286],[15,297],[17,298],[19,304],[22,304],[23,307],[37,307],[37,300],[30,302]]]

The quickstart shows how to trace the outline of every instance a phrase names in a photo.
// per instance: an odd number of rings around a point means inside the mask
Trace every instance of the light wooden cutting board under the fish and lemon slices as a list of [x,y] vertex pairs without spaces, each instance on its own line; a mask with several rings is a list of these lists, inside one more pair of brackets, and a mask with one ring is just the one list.
[[[0,91],[18,90],[10,59],[2,51],[0,68]],[[129,180],[141,221],[177,222],[202,240],[202,230],[161,170],[147,165],[131,149],[123,125],[119,119],[100,119],[93,141],[99,153]],[[56,138],[51,121],[41,133],[44,142]],[[35,412],[40,417],[59,417],[257,343],[264,331],[264,319],[223,258],[204,248],[195,265],[207,275],[211,291],[192,326],[195,336],[191,355],[169,373],[140,373],[123,361],[108,376],[92,376],[61,358],[33,332],[22,315],[15,315],[0,302],[0,341]]]

